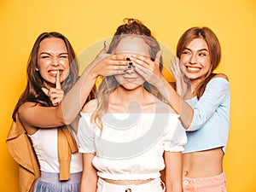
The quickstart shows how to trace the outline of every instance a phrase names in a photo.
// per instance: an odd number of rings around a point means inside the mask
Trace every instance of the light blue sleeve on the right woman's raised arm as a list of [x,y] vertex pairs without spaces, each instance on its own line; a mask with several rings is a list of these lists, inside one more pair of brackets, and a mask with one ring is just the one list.
[[187,131],[200,129],[228,96],[230,96],[229,81],[223,78],[212,79],[207,84],[206,90],[199,101],[191,106],[194,109],[194,115]]

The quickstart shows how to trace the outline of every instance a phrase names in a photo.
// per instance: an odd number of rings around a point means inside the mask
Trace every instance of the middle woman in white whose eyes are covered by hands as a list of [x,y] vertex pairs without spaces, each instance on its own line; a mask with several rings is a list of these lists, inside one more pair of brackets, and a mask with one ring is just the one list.
[[[118,27],[108,53],[140,55],[162,69],[160,45],[147,26],[126,19]],[[79,152],[83,153],[81,191],[165,191],[160,171],[166,167],[166,191],[182,191],[185,131],[178,115],[158,91],[134,70],[102,79],[96,100],[79,120]]]

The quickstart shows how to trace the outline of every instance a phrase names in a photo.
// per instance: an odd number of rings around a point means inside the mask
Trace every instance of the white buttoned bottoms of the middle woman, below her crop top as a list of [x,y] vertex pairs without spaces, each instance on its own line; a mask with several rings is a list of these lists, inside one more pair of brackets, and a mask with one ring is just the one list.
[[104,181],[101,177],[98,178],[97,191],[96,192],[163,192],[162,182],[160,178],[143,183],[143,184],[113,184]]

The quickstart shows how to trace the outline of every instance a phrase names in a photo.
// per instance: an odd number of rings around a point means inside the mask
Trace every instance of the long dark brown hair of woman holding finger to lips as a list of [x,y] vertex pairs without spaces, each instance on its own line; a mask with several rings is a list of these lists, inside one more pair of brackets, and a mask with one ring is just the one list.
[[32,47],[31,54],[27,61],[26,75],[27,75],[27,83],[26,89],[21,94],[19,101],[15,106],[14,113],[12,118],[15,120],[15,114],[17,113],[20,105],[25,102],[35,102],[35,105],[40,104],[44,107],[52,106],[49,101],[49,96],[46,96],[44,92],[41,90],[44,87],[44,79],[40,75],[40,73],[36,70],[38,68],[38,49],[40,43],[45,38],[61,38],[67,47],[67,55],[68,61],[70,63],[70,70],[65,79],[61,83],[62,90],[67,93],[73,86],[73,84],[79,79],[79,62],[76,59],[75,52],[73,50],[72,45],[68,41],[68,39],[59,32],[43,32],[40,34]]

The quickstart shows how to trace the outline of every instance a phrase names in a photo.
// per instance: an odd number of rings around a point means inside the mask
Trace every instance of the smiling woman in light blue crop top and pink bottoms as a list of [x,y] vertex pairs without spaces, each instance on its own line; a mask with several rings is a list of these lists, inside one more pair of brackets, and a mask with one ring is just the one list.
[[[218,67],[221,49],[218,38],[208,27],[193,27],[183,33],[177,44],[177,57],[172,72],[177,90],[185,95],[183,75],[189,79],[193,98],[186,102],[157,69],[134,58],[137,73],[150,73],[156,87],[180,114],[187,129],[188,143],[183,151],[183,191],[226,191],[223,158],[230,128],[230,83]],[[178,72],[179,71],[179,72]],[[186,86],[184,86],[186,87]],[[183,92],[184,91],[184,92]]]

